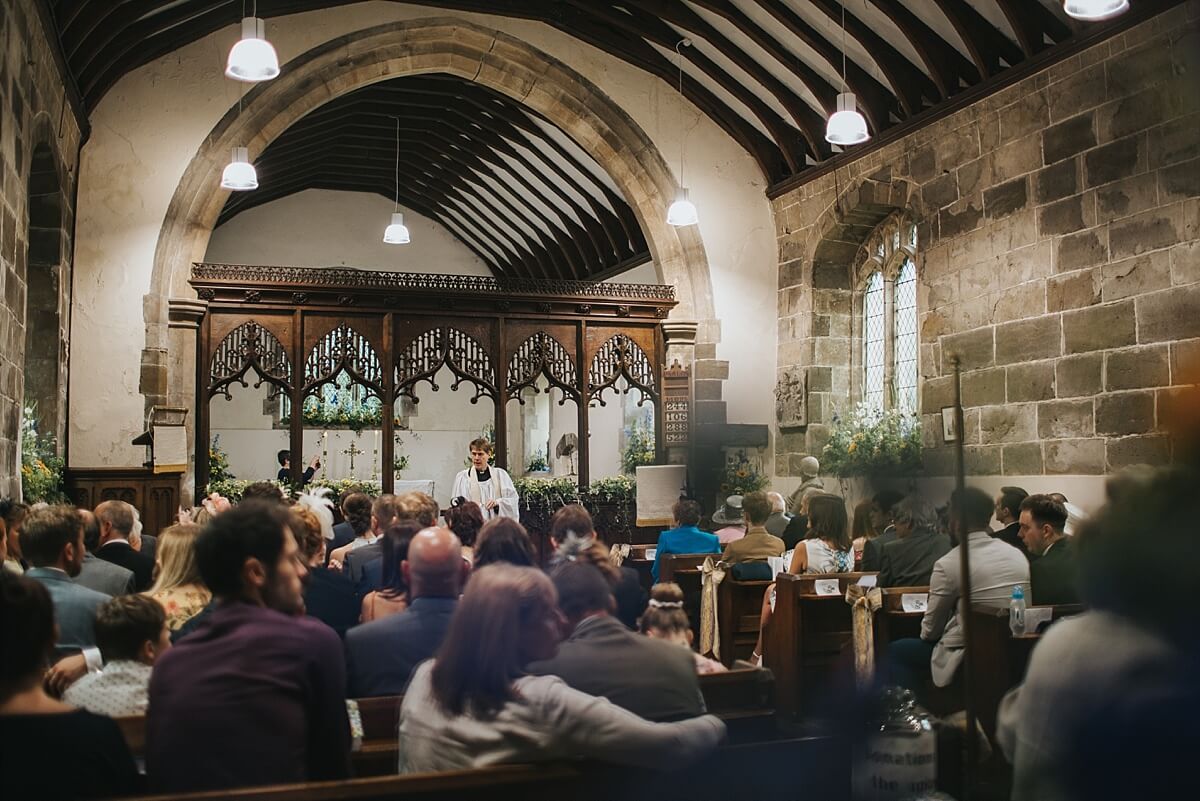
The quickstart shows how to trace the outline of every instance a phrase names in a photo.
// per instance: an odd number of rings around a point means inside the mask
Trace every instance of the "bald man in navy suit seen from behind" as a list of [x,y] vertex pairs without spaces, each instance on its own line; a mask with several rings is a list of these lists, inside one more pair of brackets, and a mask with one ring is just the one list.
[[346,632],[352,698],[404,692],[416,666],[442,645],[470,566],[450,529],[422,529],[400,570],[408,584],[408,608]]

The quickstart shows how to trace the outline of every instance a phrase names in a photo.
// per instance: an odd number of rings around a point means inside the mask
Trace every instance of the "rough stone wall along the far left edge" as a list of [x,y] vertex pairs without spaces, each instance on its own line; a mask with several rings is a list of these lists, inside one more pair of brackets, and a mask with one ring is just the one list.
[[[0,5],[0,495],[19,492],[20,409],[61,435],[80,124],[34,0]],[[26,342],[26,332],[31,338]],[[28,357],[28,359],[26,359]]]

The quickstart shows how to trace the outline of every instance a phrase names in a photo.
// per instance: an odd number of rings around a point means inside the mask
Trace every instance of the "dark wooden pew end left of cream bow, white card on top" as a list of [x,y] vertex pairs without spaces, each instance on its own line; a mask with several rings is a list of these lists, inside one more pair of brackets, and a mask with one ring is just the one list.
[[[848,654],[853,639],[846,588],[874,574],[776,577],[775,610],[763,637],[763,664],[775,674],[782,715],[798,718],[823,688],[833,685],[834,667]],[[817,582],[834,580],[838,595],[817,594]]]

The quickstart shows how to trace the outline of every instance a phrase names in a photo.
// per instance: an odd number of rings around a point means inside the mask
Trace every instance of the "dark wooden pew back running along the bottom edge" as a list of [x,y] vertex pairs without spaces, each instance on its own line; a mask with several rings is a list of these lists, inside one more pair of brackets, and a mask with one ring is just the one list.
[[592,761],[497,765],[445,773],[414,773],[305,782],[210,793],[142,796],[139,801],[610,801],[686,797],[690,801],[806,801],[850,796],[850,748],[832,737],[797,737],[725,746],[702,764],[671,771]]

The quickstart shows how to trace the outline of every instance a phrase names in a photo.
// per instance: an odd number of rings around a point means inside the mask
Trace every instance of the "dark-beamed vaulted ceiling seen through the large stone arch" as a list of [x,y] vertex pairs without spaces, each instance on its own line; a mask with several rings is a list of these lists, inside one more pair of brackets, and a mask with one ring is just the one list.
[[632,209],[590,156],[516,101],[451,76],[348,92],[254,163],[259,188],[232,193],[218,223],[308,188],[398,192],[496,275],[595,278],[650,259]]

